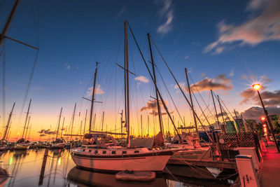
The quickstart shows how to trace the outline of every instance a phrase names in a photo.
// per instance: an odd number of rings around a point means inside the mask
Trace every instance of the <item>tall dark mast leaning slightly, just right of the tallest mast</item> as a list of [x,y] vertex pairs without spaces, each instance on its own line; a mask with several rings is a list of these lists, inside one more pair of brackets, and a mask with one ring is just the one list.
[[[157,81],[156,81],[156,78],[155,78],[155,63],[153,62],[153,51],[152,51],[152,47],[151,47],[151,39],[150,39],[150,33],[147,34],[148,36],[148,44],[149,44],[149,48],[150,48],[150,55],[151,55],[151,62],[152,62],[152,67],[153,67],[153,83],[155,84],[155,87],[157,87]],[[158,120],[159,120],[159,123],[160,123],[160,131],[162,132],[162,139],[163,138],[163,126],[162,126],[162,113],[160,111],[160,102],[158,101],[158,91],[157,89],[155,89],[155,99],[157,99],[157,106],[158,106]],[[164,102],[164,101],[162,101]]]

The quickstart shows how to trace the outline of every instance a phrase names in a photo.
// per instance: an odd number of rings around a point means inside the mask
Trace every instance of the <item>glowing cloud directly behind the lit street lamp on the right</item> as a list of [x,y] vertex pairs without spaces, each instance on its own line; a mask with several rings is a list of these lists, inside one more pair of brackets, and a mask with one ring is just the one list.
[[[265,86],[262,86],[262,90],[265,89]],[[241,97],[243,97],[241,104],[253,102],[254,104],[260,105],[260,98],[258,97],[257,92],[253,90],[253,88],[247,88],[246,90],[241,92],[240,95]],[[262,91],[261,97],[265,106],[280,106],[280,90]]]

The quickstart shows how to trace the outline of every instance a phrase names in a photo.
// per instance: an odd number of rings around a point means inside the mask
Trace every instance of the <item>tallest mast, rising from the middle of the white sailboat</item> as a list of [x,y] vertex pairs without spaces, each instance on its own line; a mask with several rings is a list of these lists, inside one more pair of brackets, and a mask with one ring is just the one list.
[[130,147],[130,74],[128,66],[128,41],[127,41],[127,21],[125,21],[125,71],[126,71],[126,106],[127,106],[127,147]]

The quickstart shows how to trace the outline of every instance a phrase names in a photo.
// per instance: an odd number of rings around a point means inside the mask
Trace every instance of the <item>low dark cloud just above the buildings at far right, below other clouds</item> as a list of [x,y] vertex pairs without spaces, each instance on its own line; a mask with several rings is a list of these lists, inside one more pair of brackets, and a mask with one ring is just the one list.
[[[278,107],[268,106],[266,107],[266,109],[269,115],[280,114],[280,108]],[[265,116],[262,107],[258,107],[258,106],[253,106],[249,109],[246,109],[246,111],[242,112],[241,114],[245,119],[252,119],[252,120],[253,119],[258,120],[260,119],[261,116]]]

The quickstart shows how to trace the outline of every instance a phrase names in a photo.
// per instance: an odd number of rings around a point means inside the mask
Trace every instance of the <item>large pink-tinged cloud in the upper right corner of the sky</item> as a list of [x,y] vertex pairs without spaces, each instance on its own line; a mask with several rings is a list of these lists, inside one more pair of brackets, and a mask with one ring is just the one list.
[[280,40],[279,10],[279,0],[251,0],[246,11],[257,16],[250,15],[241,25],[228,25],[225,21],[218,23],[218,40],[204,48],[204,53],[222,53],[232,43],[255,46],[263,41]]

